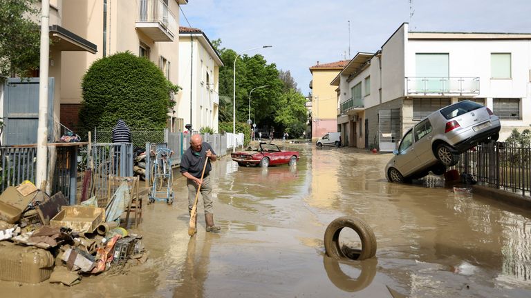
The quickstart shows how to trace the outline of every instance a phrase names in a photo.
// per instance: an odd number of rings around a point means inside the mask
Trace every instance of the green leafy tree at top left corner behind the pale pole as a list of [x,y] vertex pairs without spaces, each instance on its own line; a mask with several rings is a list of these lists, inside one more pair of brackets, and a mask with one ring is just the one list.
[[[29,77],[39,67],[36,0],[0,0],[0,76]],[[24,16],[24,17],[23,17]]]

